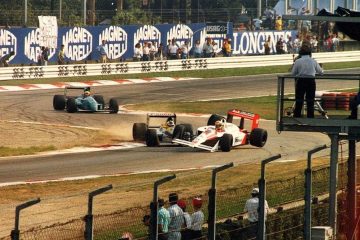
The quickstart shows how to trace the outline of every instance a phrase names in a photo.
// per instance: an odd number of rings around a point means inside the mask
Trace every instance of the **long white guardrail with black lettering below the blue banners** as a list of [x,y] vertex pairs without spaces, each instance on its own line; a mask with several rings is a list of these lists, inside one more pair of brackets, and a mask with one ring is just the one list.
[[[360,61],[360,51],[314,53],[321,63]],[[170,72],[221,68],[242,68],[290,65],[292,54],[240,57],[192,58],[149,62],[118,62],[106,64],[74,64],[49,66],[17,66],[1,69],[0,80],[79,77],[148,72]]]

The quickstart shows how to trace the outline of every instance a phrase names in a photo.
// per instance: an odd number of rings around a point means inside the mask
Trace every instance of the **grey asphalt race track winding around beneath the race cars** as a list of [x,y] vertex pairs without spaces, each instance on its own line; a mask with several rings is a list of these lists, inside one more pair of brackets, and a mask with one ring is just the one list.
[[[346,71],[347,73],[349,70]],[[359,73],[360,70],[352,70]],[[337,72],[339,73],[339,71]],[[0,84],[1,85],[1,84]],[[358,87],[356,81],[318,81],[317,90]],[[293,86],[288,86],[289,91]],[[96,87],[107,99],[116,97],[120,105],[155,102],[189,101],[247,96],[273,95],[277,91],[276,75],[245,76],[222,79],[199,79],[168,83],[133,84]],[[0,93],[0,120],[21,120],[53,124],[80,125],[123,131],[131,139],[134,122],[144,122],[141,114],[68,114],[52,109],[52,97],[61,90],[35,90]],[[291,91],[293,92],[293,91]],[[106,100],[107,100],[106,99]],[[241,106],[234,106],[241,108]],[[244,109],[246,110],[246,109]],[[261,116],[261,113],[259,113]],[[207,118],[180,116],[179,122],[192,122],[194,127],[206,124]],[[321,133],[278,134],[275,121],[261,121],[267,129],[264,148],[238,147],[228,153],[209,153],[187,147],[137,147],[91,153],[36,157],[0,158],[0,183],[36,181],[88,175],[110,175],[137,171],[175,170],[205,166],[259,162],[282,154],[283,160],[305,159],[307,151],[330,139]],[[11,173],[11,174],[10,174]]]

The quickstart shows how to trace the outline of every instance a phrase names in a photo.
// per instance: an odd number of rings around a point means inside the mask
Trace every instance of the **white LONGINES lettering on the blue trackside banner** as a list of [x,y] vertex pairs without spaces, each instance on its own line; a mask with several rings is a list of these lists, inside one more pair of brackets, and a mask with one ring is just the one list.
[[[264,43],[270,36],[271,38],[271,52],[276,52],[276,42],[282,37],[287,41],[288,36],[294,39],[295,31],[281,31],[281,32],[238,32],[234,33],[233,54],[264,54]],[[286,44],[284,50],[286,51]]]

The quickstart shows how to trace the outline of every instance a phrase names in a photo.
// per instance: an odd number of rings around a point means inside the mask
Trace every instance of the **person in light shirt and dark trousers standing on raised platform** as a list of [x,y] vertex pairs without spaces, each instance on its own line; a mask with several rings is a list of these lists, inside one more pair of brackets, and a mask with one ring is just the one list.
[[301,110],[306,95],[307,117],[314,117],[315,99],[315,74],[323,74],[323,69],[311,58],[311,47],[303,43],[299,51],[300,57],[295,61],[292,68],[292,75],[296,76],[295,82],[295,109],[294,117],[301,117]]

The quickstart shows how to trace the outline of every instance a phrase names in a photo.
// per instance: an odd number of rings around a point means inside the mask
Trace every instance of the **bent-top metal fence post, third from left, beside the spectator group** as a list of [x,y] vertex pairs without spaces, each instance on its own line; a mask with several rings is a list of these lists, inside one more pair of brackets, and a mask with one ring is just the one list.
[[176,178],[176,175],[171,175],[171,176],[167,176],[164,177],[160,180],[157,180],[154,183],[154,193],[153,193],[153,201],[150,204],[150,210],[151,210],[151,215],[150,215],[150,240],[157,240],[158,239],[158,225],[157,225],[157,212],[159,209],[159,204],[158,204],[158,188],[161,184],[166,183],[172,179]]

